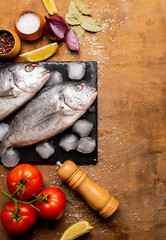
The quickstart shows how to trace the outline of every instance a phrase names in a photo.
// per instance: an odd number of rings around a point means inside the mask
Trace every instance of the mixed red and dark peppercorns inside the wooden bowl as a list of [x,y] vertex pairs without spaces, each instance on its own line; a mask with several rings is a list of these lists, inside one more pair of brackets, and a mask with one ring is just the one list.
[[0,54],[8,54],[14,47],[14,37],[8,31],[0,32]]

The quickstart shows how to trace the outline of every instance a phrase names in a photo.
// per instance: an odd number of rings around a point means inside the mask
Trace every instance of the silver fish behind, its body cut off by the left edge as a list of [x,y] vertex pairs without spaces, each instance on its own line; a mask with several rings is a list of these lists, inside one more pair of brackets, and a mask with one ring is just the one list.
[[50,77],[35,64],[18,63],[0,71],[0,120],[30,100]]

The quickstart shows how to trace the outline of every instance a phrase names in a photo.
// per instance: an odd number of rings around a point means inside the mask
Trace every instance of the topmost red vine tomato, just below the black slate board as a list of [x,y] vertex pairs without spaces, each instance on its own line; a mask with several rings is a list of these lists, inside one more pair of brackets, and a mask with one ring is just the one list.
[[20,164],[11,170],[7,176],[7,185],[11,194],[18,188],[19,193],[14,195],[15,198],[27,200],[38,194],[41,190],[43,177],[40,171],[30,164]]

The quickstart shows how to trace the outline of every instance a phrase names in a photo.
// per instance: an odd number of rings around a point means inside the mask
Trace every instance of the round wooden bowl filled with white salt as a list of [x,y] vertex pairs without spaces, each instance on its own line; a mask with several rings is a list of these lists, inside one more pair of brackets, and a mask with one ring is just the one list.
[[43,34],[44,19],[36,11],[23,11],[15,20],[17,34],[24,40],[36,40]]

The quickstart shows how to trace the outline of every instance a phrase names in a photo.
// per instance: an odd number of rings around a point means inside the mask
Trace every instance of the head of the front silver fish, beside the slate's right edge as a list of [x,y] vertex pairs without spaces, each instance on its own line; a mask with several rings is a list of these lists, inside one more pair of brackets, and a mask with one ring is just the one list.
[[96,97],[96,88],[85,83],[70,83],[63,91],[64,103],[73,111],[86,111]]

